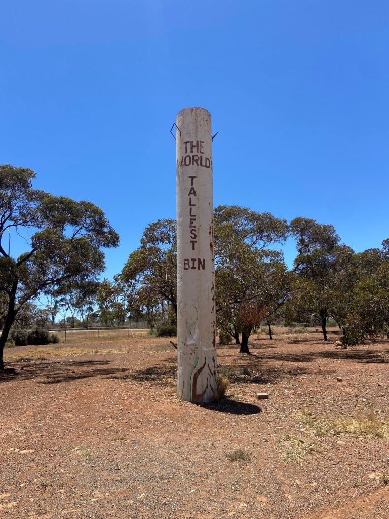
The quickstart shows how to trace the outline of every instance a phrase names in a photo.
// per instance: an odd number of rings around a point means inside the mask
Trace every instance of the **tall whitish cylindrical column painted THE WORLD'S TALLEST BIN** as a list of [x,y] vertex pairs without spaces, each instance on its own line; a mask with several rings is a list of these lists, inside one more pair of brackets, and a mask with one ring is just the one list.
[[211,114],[177,115],[178,397],[216,396]]

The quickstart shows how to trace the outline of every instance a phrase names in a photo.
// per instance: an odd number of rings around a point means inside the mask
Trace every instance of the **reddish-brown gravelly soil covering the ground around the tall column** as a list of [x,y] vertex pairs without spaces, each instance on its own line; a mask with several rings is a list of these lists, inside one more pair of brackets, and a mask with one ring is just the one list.
[[[0,381],[0,516],[388,519],[387,439],[321,436],[298,412],[387,420],[389,342],[339,350],[301,337],[253,340],[252,356],[220,347],[235,374],[209,407],[175,397],[166,339],[8,362],[18,374]],[[229,461],[239,448],[249,459]]]

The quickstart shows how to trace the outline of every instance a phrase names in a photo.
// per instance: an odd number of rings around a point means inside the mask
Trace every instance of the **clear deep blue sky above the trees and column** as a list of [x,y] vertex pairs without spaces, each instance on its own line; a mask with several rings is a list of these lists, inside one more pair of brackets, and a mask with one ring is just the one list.
[[355,251],[389,237],[387,0],[3,0],[0,20],[0,162],[105,211],[108,277],[175,217],[188,106],[219,131],[215,206],[331,223]]

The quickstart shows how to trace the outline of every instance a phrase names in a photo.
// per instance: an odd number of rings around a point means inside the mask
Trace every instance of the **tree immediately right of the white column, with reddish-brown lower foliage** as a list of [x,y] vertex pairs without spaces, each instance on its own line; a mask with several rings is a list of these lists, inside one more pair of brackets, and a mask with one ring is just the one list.
[[287,234],[286,220],[271,213],[240,206],[215,209],[217,324],[235,340],[242,334],[242,353],[249,353],[248,338],[267,307],[271,312],[285,298],[279,283],[287,270],[283,254],[269,247],[283,243]]

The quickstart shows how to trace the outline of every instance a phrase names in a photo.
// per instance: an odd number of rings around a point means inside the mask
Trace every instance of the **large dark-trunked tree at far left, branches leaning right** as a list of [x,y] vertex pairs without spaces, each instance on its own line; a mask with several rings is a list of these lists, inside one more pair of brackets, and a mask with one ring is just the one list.
[[[69,280],[87,280],[104,269],[102,248],[117,247],[119,236],[104,212],[88,201],[35,189],[31,169],[0,166],[0,293],[6,299],[0,336],[3,349],[13,322],[29,302]],[[31,229],[28,247],[11,257],[4,233]]]

